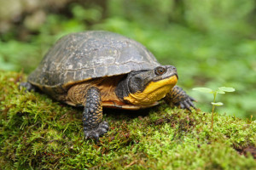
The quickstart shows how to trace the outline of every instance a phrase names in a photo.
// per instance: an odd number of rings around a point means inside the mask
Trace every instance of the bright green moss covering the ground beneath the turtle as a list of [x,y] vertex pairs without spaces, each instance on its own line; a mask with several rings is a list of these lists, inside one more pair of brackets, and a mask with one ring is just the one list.
[[22,73],[0,72],[1,169],[254,169],[242,150],[256,145],[256,122],[171,109],[104,111],[110,131],[84,140],[80,108],[18,89]]

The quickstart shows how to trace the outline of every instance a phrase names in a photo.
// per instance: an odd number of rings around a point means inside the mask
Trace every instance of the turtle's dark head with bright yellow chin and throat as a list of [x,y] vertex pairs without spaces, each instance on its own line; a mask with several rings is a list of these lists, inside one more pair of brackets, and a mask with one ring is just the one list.
[[125,80],[119,82],[116,93],[132,105],[152,105],[164,98],[176,83],[176,68],[160,65],[153,70],[131,71]]

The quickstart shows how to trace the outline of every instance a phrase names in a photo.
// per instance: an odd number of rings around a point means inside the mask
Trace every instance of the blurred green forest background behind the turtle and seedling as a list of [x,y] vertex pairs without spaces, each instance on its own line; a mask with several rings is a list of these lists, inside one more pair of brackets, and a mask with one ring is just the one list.
[[256,117],[255,0],[0,0],[0,69],[29,74],[49,47],[75,31],[118,32],[143,43],[211,111],[212,96],[192,88],[236,88],[219,95],[219,114]]

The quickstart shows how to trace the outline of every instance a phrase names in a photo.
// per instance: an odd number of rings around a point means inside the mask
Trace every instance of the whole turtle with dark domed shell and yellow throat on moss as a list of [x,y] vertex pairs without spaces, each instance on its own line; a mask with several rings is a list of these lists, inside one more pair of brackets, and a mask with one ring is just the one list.
[[84,106],[84,137],[99,140],[109,129],[102,107],[139,110],[164,100],[189,111],[195,108],[195,99],[177,80],[176,67],[160,65],[140,42],[110,31],[82,31],[55,42],[20,87]]

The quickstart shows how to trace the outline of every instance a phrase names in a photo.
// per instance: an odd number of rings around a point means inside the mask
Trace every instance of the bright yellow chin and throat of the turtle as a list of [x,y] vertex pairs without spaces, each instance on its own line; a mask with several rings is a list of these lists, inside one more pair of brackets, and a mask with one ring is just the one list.
[[129,94],[124,99],[133,105],[152,105],[163,99],[177,83],[177,76],[168,77],[158,82],[149,82],[143,92]]

